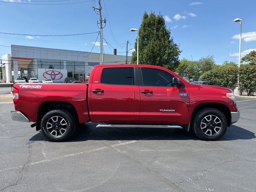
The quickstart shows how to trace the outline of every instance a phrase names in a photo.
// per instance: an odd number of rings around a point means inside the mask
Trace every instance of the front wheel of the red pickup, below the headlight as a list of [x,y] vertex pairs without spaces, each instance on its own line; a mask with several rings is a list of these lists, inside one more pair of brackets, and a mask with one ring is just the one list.
[[227,127],[226,116],[214,108],[199,110],[192,120],[194,134],[206,141],[218,140],[226,133]]

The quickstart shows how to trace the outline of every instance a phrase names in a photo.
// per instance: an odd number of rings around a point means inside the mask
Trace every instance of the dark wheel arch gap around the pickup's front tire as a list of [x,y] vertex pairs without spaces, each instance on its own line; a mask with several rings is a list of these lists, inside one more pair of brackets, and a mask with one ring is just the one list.
[[[221,103],[209,102],[209,103],[200,103],[200,104],[196,105],[196,107],[194,108],[194,110],[192,112],[190,121],[194,118],[194,115],[199,110],[204,109],[204,108],[214,108],[214,109],[220,110],[226,116],[226,119],[228,122],[228,127],[230,127],[230,125],[231,125],[230,110],[229,110],[228,106],[226,106],[225,104],[221,104]],[[190,127],[188,127],[187,131],[189,131],[189,130],[190,130]]]

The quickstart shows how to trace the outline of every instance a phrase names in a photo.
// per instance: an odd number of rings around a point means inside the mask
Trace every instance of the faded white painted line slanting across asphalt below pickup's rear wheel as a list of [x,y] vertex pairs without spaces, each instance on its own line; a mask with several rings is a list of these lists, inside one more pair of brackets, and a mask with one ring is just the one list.
[[[111,145],[111,147],[117,147],[117,146],[122,146],[122,145],[128,145],[131,143],[136,143],[136,140],[133,141],[128,141],[128,142],[123,142],[123,143],[118,143],[118,144],[114,144]],[[72,157],[72,156],[77,156],[80,154],[86,154],[86,153],[91,153],[91,152],[95,152],[95,151],[100,151],[100,150],[104,150],[107,149],[108,147],[100,147],[100,148],[95,148],[95,149],[91,149],[88,151],[83,151],[83,152],[78,152],[78,153],[72,153],[72,154],[68,154],[68,155],[62,155],[62,156],[57,156],[57,157],[53,157],[53,158],[49,158],[49,159],[44,159],[44,160],[39,160],[39,161],[34,161],[31,162],[29,164],[26,164],[25,166],[32,166],[32,165],[37,165],[37,164],[41,164],[41,163],[45,163],[45,162],[50,162],[53,160],[58,160],[58,159],[62,159],[62,158],[67,158],[67,157]],[[0,169],[0,172],[4,172],[4,171],[8,171],[8,170],[13,170],[13,169],[18,169],[18,168],[22,168],[22,166],[14,166],[14,167],[9,167],[9,168],[4,168],[4,169]]]

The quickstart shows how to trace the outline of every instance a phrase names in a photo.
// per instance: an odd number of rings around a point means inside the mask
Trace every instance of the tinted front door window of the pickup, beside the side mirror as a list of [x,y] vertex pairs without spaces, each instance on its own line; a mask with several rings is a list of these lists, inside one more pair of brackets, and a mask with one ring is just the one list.
[[153,68],[141,68],[144,86],[172,86],[172,78],[170,73]]

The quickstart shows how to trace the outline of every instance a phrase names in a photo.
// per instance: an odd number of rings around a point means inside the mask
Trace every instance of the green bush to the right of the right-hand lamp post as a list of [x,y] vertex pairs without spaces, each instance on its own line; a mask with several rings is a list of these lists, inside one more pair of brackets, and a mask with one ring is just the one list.
[[256,92],[256,65],[244,64],[239,70],[239,88],[248,96]]

